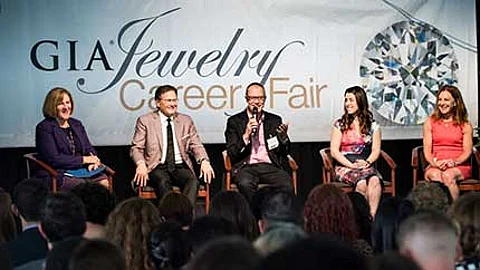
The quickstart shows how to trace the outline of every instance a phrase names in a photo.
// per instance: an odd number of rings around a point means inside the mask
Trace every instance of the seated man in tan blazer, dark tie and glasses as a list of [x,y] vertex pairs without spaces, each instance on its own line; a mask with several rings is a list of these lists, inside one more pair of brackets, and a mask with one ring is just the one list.
[[[130,148],[130,157],[137,167],[134,182],[145,186],[152,181],[150,185],[158,199],[171,190],[171,185],[178,186],[195,205],[197,178],[189,154],[200,164],[200,177],[203,175],[205,182],[210,183],[214,172],[207,152],[192,118],[177,112],[175,87],[158,87],[155,104],[157,110],[140,116],[135,125]],[[175,134],[170,141],[169,132]]]

